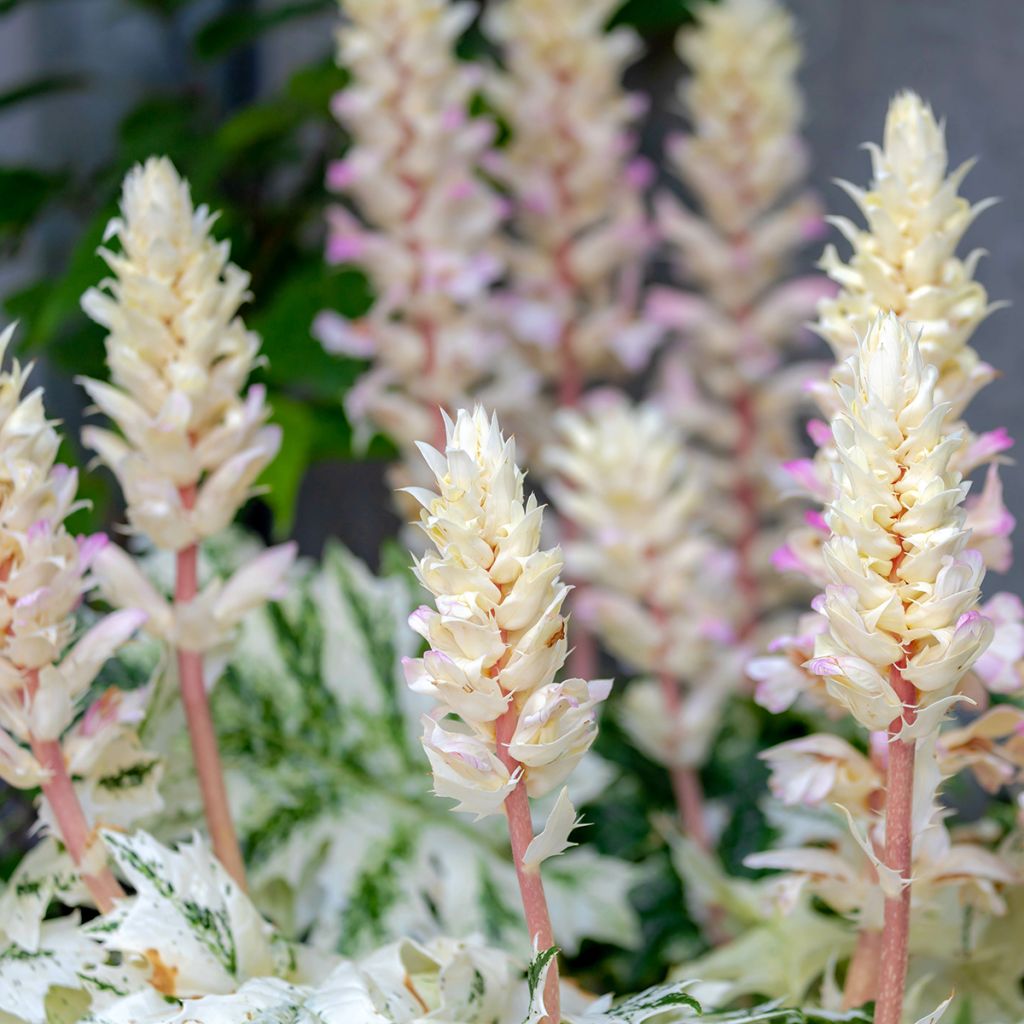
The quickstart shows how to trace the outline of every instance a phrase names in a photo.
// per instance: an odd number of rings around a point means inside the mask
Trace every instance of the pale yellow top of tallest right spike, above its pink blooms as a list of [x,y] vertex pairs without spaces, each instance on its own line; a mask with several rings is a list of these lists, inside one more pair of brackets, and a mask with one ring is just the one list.
[[893,99],[882,147],[867,148],[873,172],[868,189],[843,183],[867,227],[829,218],[853,254],[844,263],[835,247],[825,249],[821,266],[841,291],[819,307],[818,331],[844,359],[879,312],[916,324],[922,357],[939,372],[937,393],[959,416],[993,376],[969,342],[995,307],[974,280],[981,252],[961,259],[956,248],[995,201],[972,205],[957,195],[973,161],[946,174],[944,126],[913,92]]

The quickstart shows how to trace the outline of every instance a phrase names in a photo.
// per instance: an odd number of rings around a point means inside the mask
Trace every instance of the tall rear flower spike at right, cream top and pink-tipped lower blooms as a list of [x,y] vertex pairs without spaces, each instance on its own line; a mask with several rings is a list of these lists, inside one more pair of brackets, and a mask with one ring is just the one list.
[[[992,308],[984,288],[973,281],[978,254],[967,260],[955,255],[964,231],[987,204],[971,206],[957,195],[970,164],[946,174],[943,128],[913,93],[901,93],[892,101],[884,145],[868,150],[874,165],[870,188],[845,186],[863,212],[867,228],[834,218],[852,245],[853,255],[844,264],[834,248],[825,251],[822,265],[841,290],[835,299],[821,303],[817,330],[840,360],[834,377],[844,381],[850,366],[846,360],[856,350],[856,339],[880,313],[895,313],[919,336],[921,359],[935,371],[935,401],[946,404],[948,417],[963,436],[950,456],[949,469],[966,477],[989,464],[982,494],[965,504],[970,548],[987,568],[1005,571],[1012,560],[1010,534],[1015,522],[1002,504],[997,464],[1013,441],[1002,429],[975,435],[959,422],[973,395],[994,376],[969,344],[973,331]],[[824,385],[814,392],[830,419],[840,408],[839,392]],[[836,441],[828,424],[820,420],[811,422],[809,433],[818,446],[817,455],[793,460],[785,469],[803,494],[825,504],[833,497]],[[829,579],[822,560],[827,537],[823,517],[808,512],[806,522],[793,529],[776,552],[776,566],[823,586]],[[1024,607],[1010,595],[996,595],[984,611],[994,624],[995,640],[974,673],[995,692],[1020,689],[1024,684],[1019,664],[1024,658]],[[801,654],[806,643],[782,639],[777,648],[773,656],[756,660],[752,672],[769,705],[782,707],[801,688],[798,666],[804,660]],[[805,686],[813,688],[813,683],[805,681]]]

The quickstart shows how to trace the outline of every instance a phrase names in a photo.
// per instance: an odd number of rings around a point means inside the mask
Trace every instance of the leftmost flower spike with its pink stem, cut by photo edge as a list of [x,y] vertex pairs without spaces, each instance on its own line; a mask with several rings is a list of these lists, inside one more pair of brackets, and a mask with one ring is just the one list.
[[[0,359],[13,330],[0,334]],[[76,539],[65,525],[77,507],[78,476],[55,461],[60,438],[46,419],[42,389],[24,393],[26,376],[16,361],[0,374],[0,776],[42,790],[42,819],[73,862],[62,869],[79,874],[86,900],[108,911],[124,891],[95,831],[102,822],[87,817],[86,808],[95,808],[88,801],[83,807],[86,795],[73,774],[109,760],[110,748],[125,739],[118,695],[101,697],[76,720],[99,670],[145,615],[116,611],[76,637],[75,611],[94,585],[90,568],[106,538]],[[63,860],[51,846],[47,855]]]

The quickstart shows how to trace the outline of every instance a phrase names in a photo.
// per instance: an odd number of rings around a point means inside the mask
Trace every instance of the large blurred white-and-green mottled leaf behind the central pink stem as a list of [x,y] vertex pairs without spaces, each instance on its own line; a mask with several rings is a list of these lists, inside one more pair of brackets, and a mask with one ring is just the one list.
[[[234,568],[225,543],[211,558]],[[400,934],[478,932],[526,956],[504,822],[475,827],[430,793],[422,698],[400,670],[418,643],[414,603],[406,578],[377,579],[333,545],[321,566],[300,565],[283,603],[244,622],[213,702],[250,891],[286,934],[349,955]],[[199,827],[201,809],[173,700],[155,718],[144,738],[166,754],[167,803],[187,811],[154,823],[170,839]],[[578,774],[606,784],[607,766],[589,763]],[[548,861],[563,948],[636,942],[629,892],[639,879],[586,845]]]

